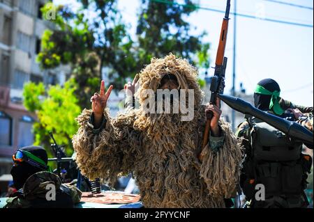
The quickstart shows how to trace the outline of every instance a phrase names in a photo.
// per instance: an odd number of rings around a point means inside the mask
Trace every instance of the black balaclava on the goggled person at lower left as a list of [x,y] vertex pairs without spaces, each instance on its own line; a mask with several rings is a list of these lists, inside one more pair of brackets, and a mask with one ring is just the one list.
[[[20,150],[27,150],[28,152],[31,152],[31,154],[42,159],[43,161],[45,161],[45,164],[47,164],[48,157],[47,152],[44,148],[41,148],[39,146],[27,146],[24,148],[20,148]],[[15,188],[17,190],[21,189],[31,175],[40,171],[43,171],[43,169],[36,166],[31,166],[24,161],[16,164],[15,166],[12,166],[11,175],[13,177],[13,183],[15,185]]]

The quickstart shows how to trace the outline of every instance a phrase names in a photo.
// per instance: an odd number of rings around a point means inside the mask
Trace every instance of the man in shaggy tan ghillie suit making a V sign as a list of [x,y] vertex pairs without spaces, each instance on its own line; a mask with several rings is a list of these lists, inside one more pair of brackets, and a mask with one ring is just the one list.
[[[241,150],[229,125],[219,120],[216,105],[202,106],[197,70],[170,54],[152,59],[139,74],[139,109],[110,118],[105,105],[112,86],[91,97],[92,110],[78,116],[80,129],[73,137],[77,165],[83,175],[113,183],[133,173],[144,207],[225,207],[239,182]],[[147,113],[145,90],[193,89],[194,116],[182,113]],[[206,114],[211,120],[209,144],[202,150]],[[198,159],[202,152],[202,161]]]

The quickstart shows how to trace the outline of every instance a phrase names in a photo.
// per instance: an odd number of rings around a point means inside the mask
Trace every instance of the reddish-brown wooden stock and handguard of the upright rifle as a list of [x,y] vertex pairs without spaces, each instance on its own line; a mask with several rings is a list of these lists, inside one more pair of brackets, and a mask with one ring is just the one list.
[[[219,45],[218,45],[218,50],[216,54],[216,69],[215,69],[215,74],[217,73],[218,69],[221,70],[221,67],[223,66],[223,61],[225,57],[225,45],[227,43],[227,31],[228,31],[228,24],[229,24],[229,12],[230,12],[230,0],[227,1],[227,9],[226,9],[226,15],[223,18],[223,24],[221,26],[221,31],[220,31],[220,39],[219,39]],[[220,71],[221,72],[221,71]],[[211,94],[211,102],[216,102],[216,92]],[[214,98],[213,98],[214,96]],[[212,117],[212,115],[211,115]],[[204,129],[204,134],[203,134],[203,141],[202,141],[202,150],[204,147],[207,145],[209,141],[209,135],[211,132],[211,117],[207,119],[205,129]],[[202,153],[202,151],[201,151]],[[202,161],[202,155],[200,154],[199,156],[200,161]]]

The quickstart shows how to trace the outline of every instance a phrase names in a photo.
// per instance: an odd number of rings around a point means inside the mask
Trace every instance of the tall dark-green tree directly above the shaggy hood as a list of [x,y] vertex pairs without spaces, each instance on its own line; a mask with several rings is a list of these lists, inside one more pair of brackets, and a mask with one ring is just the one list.
[[209,68],[209,43],[203,43],[206,33],[190,34],[186,17],[197,7],[191,0],[179,4],[175,0],[142,0],[137,24],[138,58],[140,65],[152,57],[162,57],[169,52],[188,59],[198,68]]

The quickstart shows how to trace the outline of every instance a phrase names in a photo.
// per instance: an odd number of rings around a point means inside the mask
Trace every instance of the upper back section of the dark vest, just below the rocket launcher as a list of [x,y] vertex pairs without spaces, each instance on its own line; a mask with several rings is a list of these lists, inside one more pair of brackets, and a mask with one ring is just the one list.
[[301,143],[292,143],[285,134],[266,122],[253,122],[253,156],[261,161],[293,161],[300,157]]

